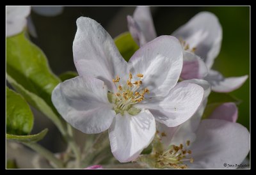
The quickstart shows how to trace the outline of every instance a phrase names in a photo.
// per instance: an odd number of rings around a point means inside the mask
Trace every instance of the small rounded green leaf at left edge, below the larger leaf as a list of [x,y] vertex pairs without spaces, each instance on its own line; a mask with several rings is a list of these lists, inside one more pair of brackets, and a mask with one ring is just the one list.
[[34,118],[24,98],[6,87],[6,132],[26,135],[33,128]]

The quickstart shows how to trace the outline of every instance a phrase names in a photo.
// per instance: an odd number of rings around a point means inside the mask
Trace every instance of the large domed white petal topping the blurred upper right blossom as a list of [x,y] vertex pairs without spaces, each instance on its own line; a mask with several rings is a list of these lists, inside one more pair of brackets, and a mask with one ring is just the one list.
[[189,47],[195,47],[195,54],[202,57],[207,67],[211,68],[220,52],[222,40],[221,25],[213,13],[198,13],[172,35],[184,40]]

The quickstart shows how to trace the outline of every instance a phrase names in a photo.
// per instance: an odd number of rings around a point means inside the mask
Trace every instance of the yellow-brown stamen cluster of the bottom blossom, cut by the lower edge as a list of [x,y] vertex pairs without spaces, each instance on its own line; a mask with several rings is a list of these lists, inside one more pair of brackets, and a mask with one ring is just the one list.
[[[189,146],[190,141],[186,142],[186,146]],[[172,168],[172,169],[188,169],[188,165],[183,164],[182,161],[189,160],[193,163],[193,158],[187,158],[192,152],[189,149],[184,148],[183,144],[180,146],[172,145],[170,149],[163,153],[156,152],[157,167],[160,168]]]

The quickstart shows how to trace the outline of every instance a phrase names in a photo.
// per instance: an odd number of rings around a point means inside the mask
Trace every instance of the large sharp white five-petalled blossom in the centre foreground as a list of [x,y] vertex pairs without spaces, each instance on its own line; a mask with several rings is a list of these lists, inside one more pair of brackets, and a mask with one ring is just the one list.
[[173,36],[147,43],[127,63],[99,23],[80,17],[73,54],[79,76],[56,86],[52,102],[84,133],[109,129],[111,151],[120,162],[134,160],[147,148],[156,132],[155,119],[180,125],[202,101],[203,88],[177,83],[182,48]]

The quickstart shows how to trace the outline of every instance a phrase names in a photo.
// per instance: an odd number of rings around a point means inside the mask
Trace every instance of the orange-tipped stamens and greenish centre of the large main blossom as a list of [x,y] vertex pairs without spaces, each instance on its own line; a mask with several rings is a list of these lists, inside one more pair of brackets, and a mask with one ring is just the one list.
[[149,93],[147,88],[141,89],[143,74],[138,73],[136,75],[138,80],[132,81],[132,73],[129,73],[129,79],[125,84],[120,83],[120,77],[116,75],[116,79],[113,79],[113,82],[118,89],[117,93],[109,93],[111,98],[109,101],[114,104],[113,109],[116,114],[124,114],[124,111],[127,110],[129,114],[136,115],[140,112],[140,109],[132,107],[135,103],[141,102],[144,100],[145,93]]

